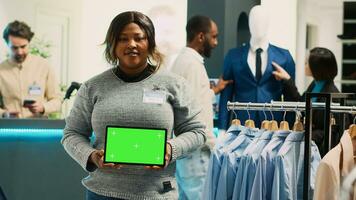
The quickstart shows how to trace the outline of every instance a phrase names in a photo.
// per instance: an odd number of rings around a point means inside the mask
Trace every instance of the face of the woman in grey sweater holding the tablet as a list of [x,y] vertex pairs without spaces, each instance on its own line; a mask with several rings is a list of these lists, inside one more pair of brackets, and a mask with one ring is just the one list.
[[147,66],[149,55],[146,33],[135,23],[127,24],[119,35],[115,54],[127,75],[137,75]]

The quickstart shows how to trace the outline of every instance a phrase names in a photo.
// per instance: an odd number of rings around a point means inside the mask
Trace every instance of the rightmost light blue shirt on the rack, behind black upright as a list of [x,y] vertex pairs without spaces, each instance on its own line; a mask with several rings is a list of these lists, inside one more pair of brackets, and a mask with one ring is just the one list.
[[[310,187],[314,188],[316,170],[320,154],[314,142],[311,143]],[[304,133],[290,134],[275,159],[275,172],[272,186],[273,200],[303,199],[304,178]],[[313,194],[311,192],[310,194]]]

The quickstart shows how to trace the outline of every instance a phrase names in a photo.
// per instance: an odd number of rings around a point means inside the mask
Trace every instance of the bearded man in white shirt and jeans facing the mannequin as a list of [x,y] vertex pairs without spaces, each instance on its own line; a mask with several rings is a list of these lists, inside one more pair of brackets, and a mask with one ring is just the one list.
[[176,178],[179,199],[201,199],[205,176],[208,169],[210,150],[214,147],[212,100],[231,81],[219,80],[210,88],[204,57],[210,57],[211,50],[218,44],[216,23],[206,16],[194,16],[187,26],[187,45],[173,63],[171,71],[184,77],[195,94],[195,100],[202,106],[202,119],[207,125],[205,148],[198,149],[188,157],[177,160]]

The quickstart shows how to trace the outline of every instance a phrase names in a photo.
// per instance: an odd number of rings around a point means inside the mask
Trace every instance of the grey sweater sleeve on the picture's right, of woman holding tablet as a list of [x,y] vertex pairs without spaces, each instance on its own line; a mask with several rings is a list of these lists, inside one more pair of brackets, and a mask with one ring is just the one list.
[[172,147],[172,161],[202,146],[206,140],[206,126],[200,120],[201,108],[194,101],[186,82],[178,82],[172,97],[174,134],[168,141]]

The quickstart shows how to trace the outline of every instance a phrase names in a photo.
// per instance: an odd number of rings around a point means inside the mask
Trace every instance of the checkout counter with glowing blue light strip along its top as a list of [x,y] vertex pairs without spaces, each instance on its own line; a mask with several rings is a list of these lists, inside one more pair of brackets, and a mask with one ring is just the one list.
[[64,120],[0,119],[0,187],[8,200],[85,199],[87,173],[60,143],[64,126]]

